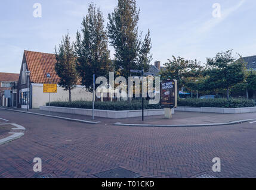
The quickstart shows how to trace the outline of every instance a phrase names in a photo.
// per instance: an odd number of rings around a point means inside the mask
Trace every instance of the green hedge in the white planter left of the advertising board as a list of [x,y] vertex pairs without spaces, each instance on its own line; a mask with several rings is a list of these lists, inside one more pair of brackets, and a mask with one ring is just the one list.
[[[48,106],[48,103],[47,103]],[[51,106],[56,107],[75,107],[75,108],[84,108],[92,109],[92,102],[85,101],[74,101],[74,102],[51,102]],[[127,102],[95,102],[95,109],[102,110],[139,110],[141,109],[140,101],[132,101],[131,103]],[[144,109],[161,109],[161,106],[158,105],[149,105],[148,101],[144,102]]]

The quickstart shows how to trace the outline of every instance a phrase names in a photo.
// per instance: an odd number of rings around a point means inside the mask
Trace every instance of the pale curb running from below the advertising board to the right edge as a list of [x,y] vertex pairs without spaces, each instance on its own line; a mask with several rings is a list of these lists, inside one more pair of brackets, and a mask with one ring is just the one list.
[[149,127],[193,127],[193,126],[221,126],[221,125],[233,125],[233,124],[241,124],[244,122],[249,122],[249,121],[255,121],[255,119],[245,119],[245,120],[240,120],[240,121],[232,121],[228,123],[221,123],[221,124],[191,124],[191,125],[157,125],[157,124],[122,124],[120,122],[117,122],[113,125],[118,125],[118,126],[149,126]]

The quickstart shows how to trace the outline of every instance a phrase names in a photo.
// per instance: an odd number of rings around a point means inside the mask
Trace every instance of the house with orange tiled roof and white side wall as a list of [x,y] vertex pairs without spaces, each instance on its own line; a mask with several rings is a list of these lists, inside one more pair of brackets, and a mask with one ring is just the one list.
[[[17,107],[39,108],[49,102],[49,93],[44,93],[44,84],[58,84],[60,78],[55,72],[55,55],[24,50],[18,79]],[[52,101],[68,101],[69,92],[57,85],[57,93],[51,93]],[[72,100],[92,100],[92,93],[78,84],[72,90]]]

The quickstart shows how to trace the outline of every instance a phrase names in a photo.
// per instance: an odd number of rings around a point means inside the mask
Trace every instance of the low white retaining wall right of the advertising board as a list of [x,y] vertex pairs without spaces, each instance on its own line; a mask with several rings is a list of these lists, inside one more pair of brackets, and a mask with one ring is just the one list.
[[183,112],[205,112],[205,113],[252,113],[256,112],[256,107],[240,107],[240,108],[221,108],[221,107],[177,107],[176,111]]

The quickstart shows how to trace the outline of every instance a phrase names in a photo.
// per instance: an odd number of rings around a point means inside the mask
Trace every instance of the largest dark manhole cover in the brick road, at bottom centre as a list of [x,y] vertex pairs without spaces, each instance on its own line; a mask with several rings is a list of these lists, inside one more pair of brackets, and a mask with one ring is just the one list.
[[138,173],[131,172],[122,167],[118,167],[116,169],[107,170],[105,172],[100,172],[94,174],[94,176],[98,178],[140,178],[141,175]]

